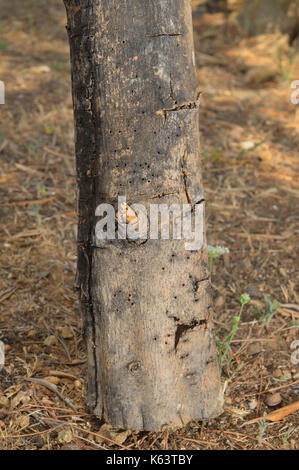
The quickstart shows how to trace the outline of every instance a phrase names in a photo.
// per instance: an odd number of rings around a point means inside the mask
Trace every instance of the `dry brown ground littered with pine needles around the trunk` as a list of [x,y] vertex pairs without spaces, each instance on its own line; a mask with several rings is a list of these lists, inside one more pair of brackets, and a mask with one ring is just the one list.
[[[278,421],[247,424],[298,405],[299,107],[290,84],[299,59],[287,36],[244,38],[232,16],[194,14],[208,243],[229,249],[212,269],[218,350],[232,350],[223,361],[224,413],[177,431],[134,433],[103,425],[84,402],[62,1],[1,1],[1,12],[0,449],[298,447],[298,406]],[[251,301],[228,344],[245,293]],[[28,378],[46,379],[60,395]]]

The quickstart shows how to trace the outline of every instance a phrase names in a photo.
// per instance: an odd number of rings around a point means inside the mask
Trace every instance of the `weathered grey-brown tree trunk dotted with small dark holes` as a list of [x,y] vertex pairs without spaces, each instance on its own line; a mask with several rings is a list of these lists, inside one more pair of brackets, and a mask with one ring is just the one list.
[[78,177],[88,404],[120,428],[217,416],[207,252],[185,240],[97,243],[102,203],[204,204],[189,0],[64,0]]

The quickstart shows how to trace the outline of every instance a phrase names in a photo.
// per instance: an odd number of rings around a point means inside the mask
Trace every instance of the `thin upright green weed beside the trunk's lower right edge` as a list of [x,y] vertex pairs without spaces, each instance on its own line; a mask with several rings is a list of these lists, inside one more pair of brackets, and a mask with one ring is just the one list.
[[[242,312],[244,309],[244,306],[250,302],[250,296],[248,294],[242,294],[239,297],[239,302],[241,304],[241,308],[239,311],[238,315],[235,315],[232,318],[232,327],[231,331],[228,333],[225,338],[220,341],[220,338],[218,335],[216,335],[216,344],[217,344],[217,355],[218,355],[218,361],[219,361],[219,367],[220,371],[222,371],[223,366],[225,365],[227,368],[229,368],[231,360],[232,360],[232,350],[231,350],[231,342],[234,339],[238,329],[239,329],[239,323],[241,320]],[[236,373],[240,370],[240,366],[237,371],[233,374],[231,379],[236,375]],[[230,380],[231,380],[230,379]]]

